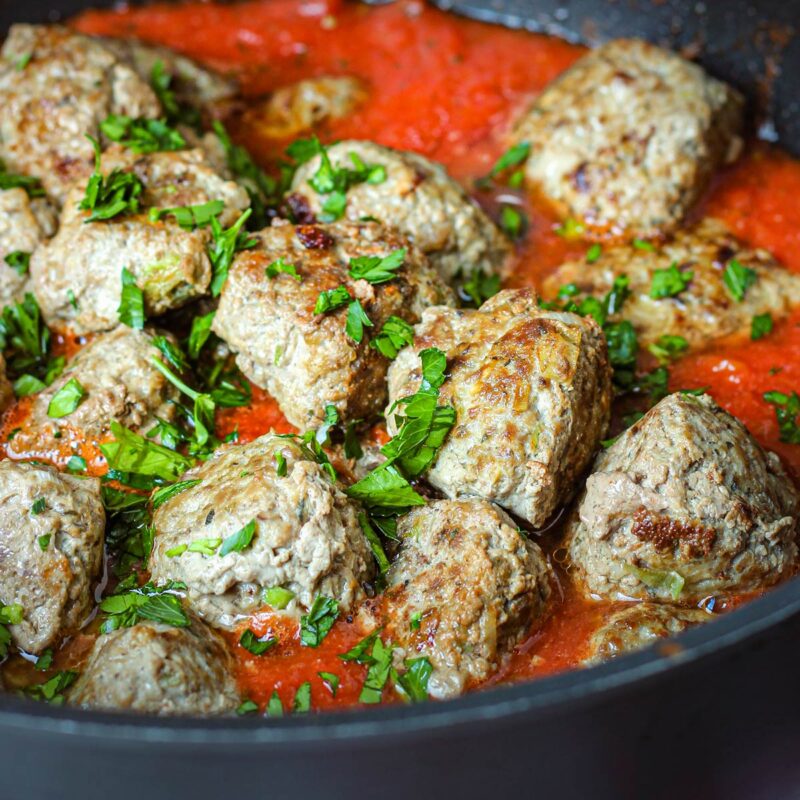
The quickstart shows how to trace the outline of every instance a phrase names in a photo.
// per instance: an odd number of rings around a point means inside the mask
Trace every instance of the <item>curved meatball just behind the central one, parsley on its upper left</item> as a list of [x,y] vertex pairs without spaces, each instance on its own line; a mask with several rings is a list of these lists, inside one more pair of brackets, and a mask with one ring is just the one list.
[[[380,183],[366,181],[348,189],[348,219],[369,217],[397,228],[430,258],[446,281],[459,273],[492,273],[503,268],[509,242],[440,164],[373,142],[339,142],[327,153],[335,167],[352,168],[355,156],[386,172]],[[309,182],[319,166],[317,156],[295,173],[288,202],[296,212],[322,213],[325,196]]]

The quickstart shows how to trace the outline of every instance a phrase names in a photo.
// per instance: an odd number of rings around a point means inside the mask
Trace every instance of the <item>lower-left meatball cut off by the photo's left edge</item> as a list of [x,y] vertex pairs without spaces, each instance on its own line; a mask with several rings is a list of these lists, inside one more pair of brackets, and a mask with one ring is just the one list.
[[96,478],[0,461],[0,601],[22,606],[9,626],[18,647],[40,653],[84,621],[105,521]]

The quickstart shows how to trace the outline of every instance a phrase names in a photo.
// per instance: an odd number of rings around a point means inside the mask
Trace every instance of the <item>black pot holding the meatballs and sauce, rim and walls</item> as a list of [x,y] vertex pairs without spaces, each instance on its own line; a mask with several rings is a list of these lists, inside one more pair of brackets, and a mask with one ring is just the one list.
[[[0,28],[85,5],[6,0]],[[762,131],[800,152],[800,40],[778,51],[768,35],[800,18],[798,0],[458,8],[569,38],[705,43],[701,61],[768,115]],[[783,72],[766,92],[776,56]],[[282,720],[156,720],[0,695],[0,798],[800,797],[800,579],[676,643],[445,704]]]

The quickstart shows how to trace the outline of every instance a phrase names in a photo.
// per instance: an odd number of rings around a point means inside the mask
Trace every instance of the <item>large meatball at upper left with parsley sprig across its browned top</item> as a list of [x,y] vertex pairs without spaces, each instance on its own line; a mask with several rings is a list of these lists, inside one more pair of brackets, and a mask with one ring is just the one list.
[[222,200],[220,221],[229,226],[249,205],[247,192],[217,175],[200,150],[136,156],[115,146],[103,155],[103,172],[114,168],[143,182],[141,213],[87,223],[89,212],[78,209],[85,184],[76,186],[58,234],[31,259],[36,299],[51,325],[67,324],[77,333],[116,327],[123,268],[144,292],[149,317],[203,295],[211,280],[210,229],[184,230],[172,217],[153,222],[149,209]]

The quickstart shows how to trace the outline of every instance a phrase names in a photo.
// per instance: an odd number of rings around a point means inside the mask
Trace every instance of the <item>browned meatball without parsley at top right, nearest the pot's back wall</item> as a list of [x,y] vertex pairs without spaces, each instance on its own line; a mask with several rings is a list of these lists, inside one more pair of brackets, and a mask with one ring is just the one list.
[[600,229],[653,236],[683,219],[741,149],[743,102],[695,64],[639,40],[609,42],[536,99],[514,138],[529,183]]

